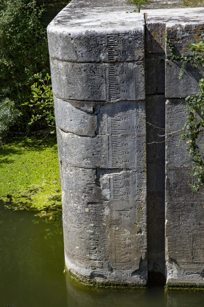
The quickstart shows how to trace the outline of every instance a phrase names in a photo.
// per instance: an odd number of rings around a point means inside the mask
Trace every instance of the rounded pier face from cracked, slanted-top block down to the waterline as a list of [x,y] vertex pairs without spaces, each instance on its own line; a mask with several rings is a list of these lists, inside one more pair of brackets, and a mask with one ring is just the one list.
[[[94,113],[55,105],[66,267],[100,282],[145,284],[145,102],[98,104]],[[92,117],[96,135],[79,135]]]

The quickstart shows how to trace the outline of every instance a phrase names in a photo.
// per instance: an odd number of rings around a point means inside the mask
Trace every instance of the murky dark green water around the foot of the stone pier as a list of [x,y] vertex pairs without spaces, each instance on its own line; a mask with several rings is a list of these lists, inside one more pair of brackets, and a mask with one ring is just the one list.
[[114,290],[65,277],[62,235],[0,204],[0,307],[204,307],[204,291]]

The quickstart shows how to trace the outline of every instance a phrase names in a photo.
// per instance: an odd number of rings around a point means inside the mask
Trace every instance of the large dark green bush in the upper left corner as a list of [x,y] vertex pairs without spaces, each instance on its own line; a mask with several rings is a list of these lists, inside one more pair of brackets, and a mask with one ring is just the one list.
[[[34,74],[49,72],[46,30],[41,25],[42,7],[35,0],[1,0],[0,4],[0,99],[21,108],[27,120],[30,86]],[[8,100],[7,100],[8,101]]]

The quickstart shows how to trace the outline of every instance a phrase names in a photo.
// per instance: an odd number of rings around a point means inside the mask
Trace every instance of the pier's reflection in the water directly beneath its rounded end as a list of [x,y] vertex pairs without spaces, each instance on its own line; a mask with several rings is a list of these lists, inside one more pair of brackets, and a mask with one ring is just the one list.
[[80,307],[164,307],[165,296],[162,287],[147,290],[93,288],[79,285],[72,278],[66,278],[67,306]]

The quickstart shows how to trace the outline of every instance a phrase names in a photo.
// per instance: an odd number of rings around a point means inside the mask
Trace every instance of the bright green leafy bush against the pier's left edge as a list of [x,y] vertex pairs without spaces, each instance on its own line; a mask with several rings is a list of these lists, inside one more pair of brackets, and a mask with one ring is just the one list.
[[24,105],[29,105],[32,113],[30,125],[37,124],[38,127],[50,126],[55,127],[55,113],[53,90],[51,83],[51,76],[47,73],[45,77],[42,74],[35,74],[37,79],[31,86],[33,99],[30,103],[26,102]]

